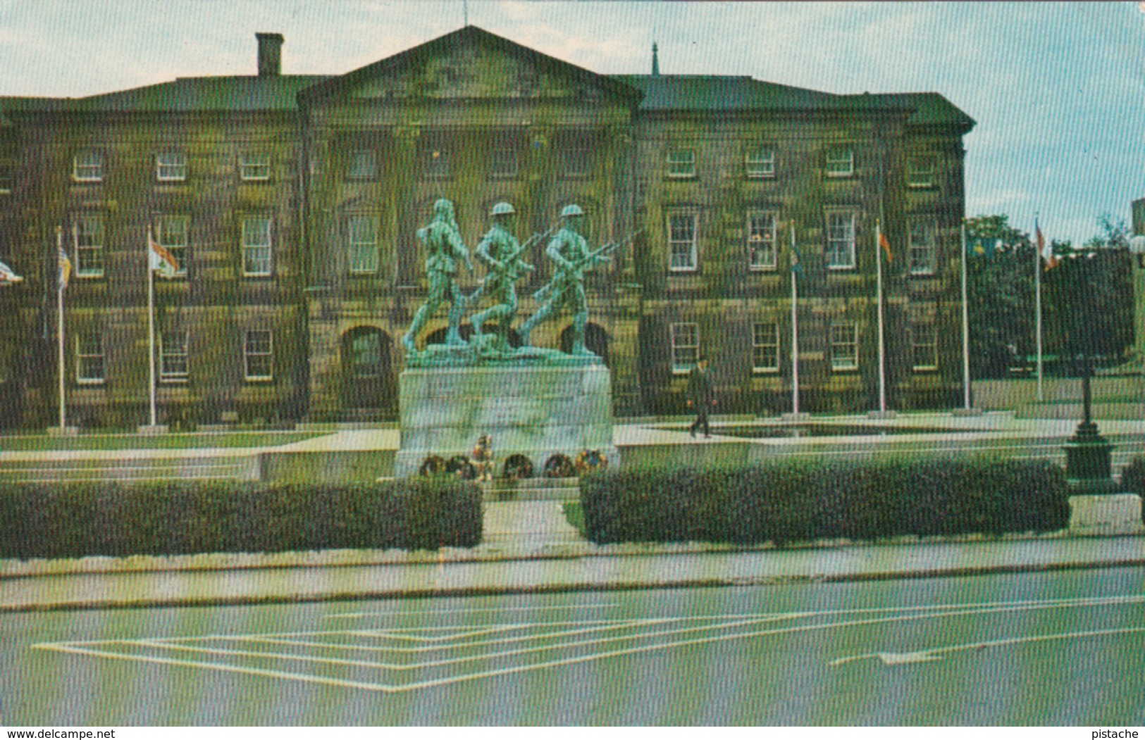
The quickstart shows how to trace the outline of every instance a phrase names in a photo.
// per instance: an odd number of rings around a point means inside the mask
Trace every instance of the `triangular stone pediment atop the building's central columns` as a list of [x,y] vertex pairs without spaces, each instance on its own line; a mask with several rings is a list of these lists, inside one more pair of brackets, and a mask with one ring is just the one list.
[[306,90],[300,101],[330,100],[614,100],[642,94],[624,82],[466,26]]

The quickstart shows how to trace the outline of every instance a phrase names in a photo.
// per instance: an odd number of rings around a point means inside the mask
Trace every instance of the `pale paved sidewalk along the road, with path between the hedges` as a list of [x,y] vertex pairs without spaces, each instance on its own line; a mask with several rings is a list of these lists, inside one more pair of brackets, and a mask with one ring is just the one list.
[[[313,554],[291,567],[106,571],[0,578],[0,613],[50,608],[250,604],[522,591],[749,586],[1145,565],[1145,538],[1025,540],[736,550],[726,546],[597,547],[564,522],[560,502],[487,504],[472,550],[368,565]],[[624,557],[618,557],[624,556]],[[196,556],[197,557],[197,556]],[[228,556],[212,556],[226,558]],[[260,558],[271,556],[229,556]]]

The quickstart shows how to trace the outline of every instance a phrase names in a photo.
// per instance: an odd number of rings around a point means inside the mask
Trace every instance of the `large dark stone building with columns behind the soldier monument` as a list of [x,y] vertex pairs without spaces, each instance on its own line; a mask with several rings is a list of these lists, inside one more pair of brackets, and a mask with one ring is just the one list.
[[[53,419],[57,226],[73,422],[145,417],[149,229],[182,268],[156,286],[161,420],[396,417],[397,340],[426,288],[414,230],[441,197],[471,247],[499,200],[522,240],[570,202],[593,245],[635,232],[587,283],[619,415],[682,409],[700,353],[724,409],[789,408],[792,229],[803,406],[871,408],[881,220],[890,405],[956,403],[973,121],[940,95],[661,74],[655,50],[652,74],[605,75],[476,26],[286,75],[283,38],[258,40],[255,77],[0,98],[0,260],[26,278],[0,291],[0,424]],[[570,318],[534,343],[567,344]]]

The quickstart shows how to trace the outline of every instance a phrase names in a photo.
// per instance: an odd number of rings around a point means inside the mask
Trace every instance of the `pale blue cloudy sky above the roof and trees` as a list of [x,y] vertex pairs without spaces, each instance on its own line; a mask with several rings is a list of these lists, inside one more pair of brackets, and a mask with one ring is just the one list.
[[468,22],[601,73],[748,74],[828,93],[938,91],[965,137],[966,215],[1080,244],[1145,197],[1138,2],[0,0],[0,95],[81,97],[176,77],[340,74]]

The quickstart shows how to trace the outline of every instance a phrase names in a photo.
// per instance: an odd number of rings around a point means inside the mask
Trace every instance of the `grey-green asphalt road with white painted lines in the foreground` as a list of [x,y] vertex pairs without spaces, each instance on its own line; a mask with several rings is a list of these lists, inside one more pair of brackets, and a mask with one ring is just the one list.
[[0,724],[1145,724],[1145,570],[0,616]]

